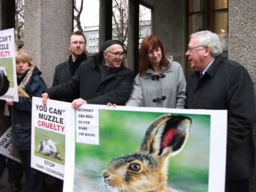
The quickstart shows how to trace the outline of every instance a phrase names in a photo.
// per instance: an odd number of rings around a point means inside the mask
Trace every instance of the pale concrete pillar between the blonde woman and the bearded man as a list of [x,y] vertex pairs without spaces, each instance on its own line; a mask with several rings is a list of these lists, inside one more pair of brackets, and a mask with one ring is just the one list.
[[55,66],[66,61],[73,31],[73,0],[24,0],[24,49],[52,86]]

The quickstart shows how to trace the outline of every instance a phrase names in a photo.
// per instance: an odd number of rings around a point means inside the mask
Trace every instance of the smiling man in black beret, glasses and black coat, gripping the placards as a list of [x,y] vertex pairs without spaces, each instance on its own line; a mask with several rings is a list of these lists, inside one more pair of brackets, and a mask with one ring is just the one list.
[[134,72],[122,62],[124,50],[120,41],[106,41],[92,60],[81,63],[68,83],[48,88],[42,94],[43,105],[48,98],[72,99],[74,109],[82,104],[125,105],[132,90]]

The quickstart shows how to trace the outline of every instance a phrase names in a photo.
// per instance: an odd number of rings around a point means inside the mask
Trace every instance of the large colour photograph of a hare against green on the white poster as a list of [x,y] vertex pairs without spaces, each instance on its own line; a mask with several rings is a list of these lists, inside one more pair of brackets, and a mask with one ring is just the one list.
[[210,119],[100,109],[100,145],[75,144],[73,191],[208,191]]

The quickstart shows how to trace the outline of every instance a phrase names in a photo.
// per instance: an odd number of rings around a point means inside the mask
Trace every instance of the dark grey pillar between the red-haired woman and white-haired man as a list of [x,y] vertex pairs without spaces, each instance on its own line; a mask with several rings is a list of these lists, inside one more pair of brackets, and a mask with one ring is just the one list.
[[185,69],[186,6],[185,1],[155,1],[153,34],[164,44],[165,54],[173,56]]

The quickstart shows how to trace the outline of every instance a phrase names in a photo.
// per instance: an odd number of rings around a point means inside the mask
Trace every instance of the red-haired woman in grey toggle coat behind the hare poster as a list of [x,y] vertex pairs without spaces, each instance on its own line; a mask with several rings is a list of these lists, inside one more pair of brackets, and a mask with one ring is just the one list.
[[165,57],[157,36],[144,38],[139,74],[126,106],[184,108],[186,81],[178,62]]

